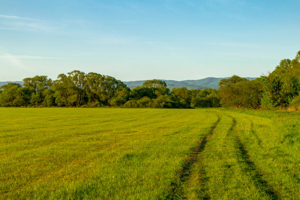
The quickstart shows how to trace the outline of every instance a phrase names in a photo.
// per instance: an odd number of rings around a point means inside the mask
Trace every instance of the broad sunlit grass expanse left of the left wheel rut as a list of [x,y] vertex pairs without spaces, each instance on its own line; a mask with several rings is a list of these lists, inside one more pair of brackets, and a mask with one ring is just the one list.
[[216,120],[196,109],[0,108],[0,197],[163,198]]

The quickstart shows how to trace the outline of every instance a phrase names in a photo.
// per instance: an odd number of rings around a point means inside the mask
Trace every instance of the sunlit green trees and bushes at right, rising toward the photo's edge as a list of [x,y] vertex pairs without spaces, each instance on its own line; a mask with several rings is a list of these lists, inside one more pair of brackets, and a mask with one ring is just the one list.
[[224,107],[300,107],[300,51],[295,59],[283,59],[272,73],[255,80],[233,75],[218,85]]

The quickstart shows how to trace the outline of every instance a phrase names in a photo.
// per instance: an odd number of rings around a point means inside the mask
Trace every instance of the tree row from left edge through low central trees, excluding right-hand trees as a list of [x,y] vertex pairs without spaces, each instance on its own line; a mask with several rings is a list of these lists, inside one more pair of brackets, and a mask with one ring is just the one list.
[[51,80],[34,76],[19,83],[0,87],[0,106],[118,106],[188,108],[218,107],[214,89],[188,90],[167,88],[161,80],[147,80],[142,87],[130,90],[122,81],[97,73],[73,71]]

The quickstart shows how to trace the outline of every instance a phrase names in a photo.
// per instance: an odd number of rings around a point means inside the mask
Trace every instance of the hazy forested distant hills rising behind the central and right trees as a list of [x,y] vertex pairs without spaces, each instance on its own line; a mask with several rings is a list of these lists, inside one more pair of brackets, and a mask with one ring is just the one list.
[[[229,77],[225,77],[229,78]],[[249,80],[255,79],[255,77],[246,77]],[[164,80],[167,83],[168,88],[180,88],[180,87],[186,87],[187,89],[203,89],[203,88],[218,88],[218,84],[221,79],[224,78],[215,78],[215,77],[207,77],[199,80],[182,80],[182,81],[177,81],[177,80]],[[142,86],[143,83],[146,80],[137,80],[137,81],[124,81],[124,83],[130,88],[135,88],[137,86]]]

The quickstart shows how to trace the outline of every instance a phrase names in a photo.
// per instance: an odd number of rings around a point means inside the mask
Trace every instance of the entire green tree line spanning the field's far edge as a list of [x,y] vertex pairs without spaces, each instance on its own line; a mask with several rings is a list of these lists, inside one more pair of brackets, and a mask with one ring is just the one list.
[[221,79],[218,90],[170,90],[165,81],[156,79],[129,89],[112,76],[76,70],[60,74],[54,81],[44,75],[23,81],[23,85],[0,87],[0,106],[300,108],[300,51],[295,59],[281,60],[273,72],[254,80],[237,75]]

